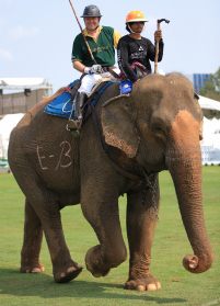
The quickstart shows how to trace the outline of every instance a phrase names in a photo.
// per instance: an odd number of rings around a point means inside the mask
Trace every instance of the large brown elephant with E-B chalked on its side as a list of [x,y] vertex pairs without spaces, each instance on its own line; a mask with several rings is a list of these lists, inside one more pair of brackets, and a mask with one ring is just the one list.
[[105,276],[127,259],[118,213],[118,197],[127,194],[129,274],[125,287],[161,288],[150,263],[160,206],[158,178],[164,170],[171,173],[194,251],[184,257],[183,265],[192,273],[211,267],[199,147],[204,115],[184,76],[149,75],[130,94],[121,95],[118,82],[111,84],[93,116],[83,123],[80,137],[66,128],[66,118],[46,114],[44,109],[45,103],[38,103],[27,112],[9,144],[9,165],[25,195],[21,272],[44,271],[39,261],[44,231],[55,282],[79,275],[83,267],[70,257],[60,209],[81,204],[100,242],[86,252],[85,265],[93,276]]

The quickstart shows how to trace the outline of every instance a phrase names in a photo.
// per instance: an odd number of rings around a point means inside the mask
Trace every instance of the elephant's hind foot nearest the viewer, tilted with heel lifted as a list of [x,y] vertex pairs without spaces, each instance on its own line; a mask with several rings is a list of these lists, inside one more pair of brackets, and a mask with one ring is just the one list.
[[62,267],[54,269],[54,279],[56,283],[68,283],[76,279],[81,272],[83,267],[74,261],[70,261],[70,264],[63,264]]

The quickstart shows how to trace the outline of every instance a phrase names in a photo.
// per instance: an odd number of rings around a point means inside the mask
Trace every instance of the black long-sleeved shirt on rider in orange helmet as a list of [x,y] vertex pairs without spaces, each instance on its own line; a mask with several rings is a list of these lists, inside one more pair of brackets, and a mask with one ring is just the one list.
[[[148,75],[151,73],[150,60],[154,61],[155,46],[150,39],[144,37],[135,39],[129,35],[125,35],[119,39],[117,49],[118,66],[128,79],[134,82],[138,80],[138,76],[130,68],[134,61],[142,64],[147,68]],[[161,61],[162,57],[163,39],[160,39],[158,61]]]

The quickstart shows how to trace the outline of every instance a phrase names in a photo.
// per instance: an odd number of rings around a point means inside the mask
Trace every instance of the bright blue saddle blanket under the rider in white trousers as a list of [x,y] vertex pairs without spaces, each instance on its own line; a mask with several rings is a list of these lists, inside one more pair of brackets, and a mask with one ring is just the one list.
[[[72,83],[68,84],[68,88],[73,87],[78,80],[73,81]],[[100,99],[100,95],[103,91],[112,83],[119,82],[119,81],[112,81],[107,82],[104,88],[101,89],[99,92],[99,97],[92,100],[92,105],[94,106]],[[65,90],[63,93],[56,97],[47,106],[45,107],[44,112],[50,115],[66,117],[66,118],[74,118],[74,111],[72,110],[72,102],[70,101],[72,94]]]

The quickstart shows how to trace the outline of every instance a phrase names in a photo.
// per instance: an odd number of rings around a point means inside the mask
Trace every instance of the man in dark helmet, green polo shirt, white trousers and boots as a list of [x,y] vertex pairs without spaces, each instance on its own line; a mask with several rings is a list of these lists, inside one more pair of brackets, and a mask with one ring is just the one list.
[[[88,99],[88,94],[91,92],[95,81],[102,78],[115,79],[109,73],[109,67],[113,68],[115,73],[119,73],[119,69],[114,68],[115,64],[115,49],[117,48],[118,41],[121,37],[120,34],[111,26],[101,26],[101,12],[95,5],[88,5],[84,8],[83,15],[85,29],[83,33],[92,50],[93,57],[97,65],[93,65],[91,55],[86,48],[82,33],[80,33],[73,42],[72,46],[72,66],[78,71],[84,73],[82,78],[81,87],[77,93],[77,114],[74,123],[77,131],[79,132],[82,124],[82,107]],[[113,72],[113,73],[114,73]]]

